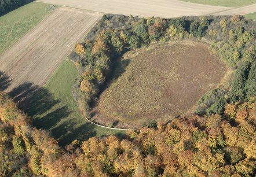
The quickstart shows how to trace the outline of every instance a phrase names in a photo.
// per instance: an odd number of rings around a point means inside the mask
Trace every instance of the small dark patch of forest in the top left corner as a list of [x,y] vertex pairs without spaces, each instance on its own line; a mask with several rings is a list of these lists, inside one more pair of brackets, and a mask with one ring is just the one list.
[[23,6],[32,0],[1,0],[0,1],[0,16]]

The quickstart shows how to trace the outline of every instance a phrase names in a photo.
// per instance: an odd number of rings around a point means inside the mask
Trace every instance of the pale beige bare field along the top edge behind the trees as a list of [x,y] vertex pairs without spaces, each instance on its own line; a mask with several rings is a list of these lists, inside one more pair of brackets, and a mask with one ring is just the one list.
[[141,17],[180,17],[202,16],[209,13],[221,12],[231,8],[209,6],[177,0],[37,0],[37,2],[52,3],[72,8],[87,9],[97,12],[125,14]]

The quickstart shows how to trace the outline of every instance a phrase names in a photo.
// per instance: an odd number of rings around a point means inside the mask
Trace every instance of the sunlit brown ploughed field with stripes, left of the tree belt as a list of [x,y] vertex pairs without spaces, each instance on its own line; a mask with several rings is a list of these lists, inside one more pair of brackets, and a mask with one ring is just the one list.
[[43,86],[100,13],[58,8],[0,56],[0,71],[11,80],[6,91],[25,82]]

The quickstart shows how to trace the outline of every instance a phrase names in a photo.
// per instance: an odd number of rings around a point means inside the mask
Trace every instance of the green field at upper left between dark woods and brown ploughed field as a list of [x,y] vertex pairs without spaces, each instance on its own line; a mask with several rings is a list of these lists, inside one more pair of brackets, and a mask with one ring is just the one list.
[[51,6],[46,3],[31,2],[0,17],[0,54],[49,14]]

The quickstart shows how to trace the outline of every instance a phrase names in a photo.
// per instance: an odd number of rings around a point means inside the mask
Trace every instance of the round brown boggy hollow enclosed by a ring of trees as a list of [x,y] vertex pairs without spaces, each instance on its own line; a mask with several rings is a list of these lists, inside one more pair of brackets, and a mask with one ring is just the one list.
[[226,72],[207,47],[178,42],[127,52],[94,107],[92,120],[135,128],[148,119],[166,123],[185,113]]

